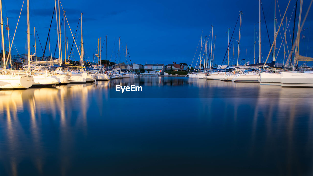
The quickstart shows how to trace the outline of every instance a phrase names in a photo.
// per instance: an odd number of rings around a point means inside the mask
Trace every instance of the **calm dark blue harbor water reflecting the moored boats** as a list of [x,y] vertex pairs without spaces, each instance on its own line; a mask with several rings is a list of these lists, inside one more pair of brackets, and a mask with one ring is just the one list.
[[310,88],[137,77],[0,91],[0,175],[312,175],[312,127]]

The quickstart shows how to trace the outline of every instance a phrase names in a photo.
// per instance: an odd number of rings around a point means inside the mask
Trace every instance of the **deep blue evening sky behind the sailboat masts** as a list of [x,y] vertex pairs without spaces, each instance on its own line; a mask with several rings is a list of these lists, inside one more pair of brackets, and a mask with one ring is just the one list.
[[[13,37],[14,29],[17,23],[18,14],[22,6],[22,0],[3,0],[3,18],[6,24],[6,17],[9,17],[10,35]],[[216,46],[214,64],[220,64],[223,60],[225,51],[227,49],[228,27],[230,34],[232,34],[239,12],[243,12],[242,17],[242,38],[240,47],[240,59],[245,59],[247,49],[247,60],[253,62],[254,57],[254,23],[256,23],[256,30],[259,35],[259,1],[64,1],[62,0],[64,10],[70,22],[70,27],[74,32],[80,16],[83,13],[83,37],[85,44],[85,52],[90,61],[93,61],[92,54],[97,48],[98,38],[104,41],[105,35],[108,36],[108,59],[111,56],[114,47],[114,38],[116,38],[116,51],[118,50],[118,37],[125,47],[125,42],[129,49],[131,61],[136,63],[164,63],[169,64],[173,61],[180,63],[185,62],[191,64],[192,58],[195,54],[198,41],[203,30],[203,39],[209,36],[212,25],[213,40],[216,35]],[[285,12],[288,1],[279,0],[279,7],[281,16]],[[304,1],[302,19],[309,5],[309,0]],[[269,37],[271,42],[274,39],[274,0],[262,1],[267,26],[269,29]],[[292,33],[294,13],[291,16],[295,0],[291,0],[290,7],[287,11],[288,21],[290,22],[290,32]],[[300,1],[298,2],[297,17],[299,14]],[[46,0],[30,0],[30,32],[33,34],[33,27],[35,26],[41,44],[47,38],[48,28],[51,21],[51,15],[54,8],[54,1]],[[55,16],[54,16],[55,17]],[[276,17],[280,23],[279,10],[277,6]],[[305,35],[305,39],[300,42],[300,54],[313,57],[313,34],[310,29],[312,23],[313,12],[309,12],[308,18],[305,22],[305,31],[301,34]],[[62,17],[61,17],[62,18]],[[269,42],[266,33],[264,18],[261,18],[261,52],[264,60],[269,52]],[[285,26],[285,21],[283,22]],[[297,24],[297,23],[296,23]],[[55,18],[51,28],[56,28]],[[277,25],[278,28],[278,25]],[[23,7],[22,16],[18,25],[14,44],[19,54],[26,53],[26,0]],[[62,33],[64,33],[62,27]],[[7,31],[5,30],[5,37],[7,40]],[[79,34],[79,33],[78,33]],[[72,43],[73,38],[66,30],[66,35]],[[239,22],[234,32],[235,40],[239,35]],[[281,35],[283,36],[282,28]],[[292,35],[292,34],[291,34]],[[37,37],[37,36],[36,36]],[[63,40],[64,37],[62,37]],[[211,38],[211,37],[210,37]],[[64,40],[63,40],[64,41]],[[37,37],[37,53],[42,55],[39,40]],[[80,38],[77,40],[80,43]],[[291,48],[291,40],[289,30],[287,31],[287,42]],[[309,43],[308,43],[309,42]],[[7,42],[6,42],[7,43]],[[256,42],[258,43],[258,42]],[[33,36],[31,36],[31,45],[34,44]],[[50,44],[52,48],[52,55],[56,44],[56,30],[51,30]],[[277,38],[277,48],[280,48],[281,39],[280,34]],[[63,43],[64,45],[64,43]],[[64,47],[63,47],[64,48]],[[256,58],[258,57],[259,46],[256,45]],[[74,57],[79,59],[77,49],[74,48]],[[238,45],[235,43],[234,63],[237,62]],[[283,47],[278,54],[277,61],[282,62]],[[34,49],[31,48],[34,52]],[[13,54],[17,54],[13,48]],[[278,52],[278,49],[277,49]],[[276,53],[277,53],[276,52]],[[232,58],[233,49],[230,52]],[[105,59],[105,50],[102,51],[102,59]],[[49,55],[49,50],[46,51]],[[55,54],[58,57],[58,51]],[[113,55],[112,55],[113,57]],[[226,56],[227,57],[227,56]],[[196,56],[196,58],[198,58]],[[111,59],[114,61],[114,59]],[[125,61],[125,56],[121,54],[121,61]],[[310,64],[311,65],[311,64]]]

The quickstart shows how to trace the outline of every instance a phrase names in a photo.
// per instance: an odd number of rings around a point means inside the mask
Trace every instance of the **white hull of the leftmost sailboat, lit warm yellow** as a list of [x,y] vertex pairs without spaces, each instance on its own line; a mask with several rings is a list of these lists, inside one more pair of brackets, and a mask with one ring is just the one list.
[[0,75],[0,89],[25,89],[33,85],[31,75]]

